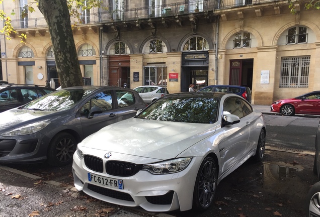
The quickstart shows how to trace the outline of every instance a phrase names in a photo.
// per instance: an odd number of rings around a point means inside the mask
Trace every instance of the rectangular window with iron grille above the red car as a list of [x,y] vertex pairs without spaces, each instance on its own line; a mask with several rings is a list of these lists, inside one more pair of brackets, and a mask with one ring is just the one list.
[[308,87],[310,56],[282,57],[280,87]]

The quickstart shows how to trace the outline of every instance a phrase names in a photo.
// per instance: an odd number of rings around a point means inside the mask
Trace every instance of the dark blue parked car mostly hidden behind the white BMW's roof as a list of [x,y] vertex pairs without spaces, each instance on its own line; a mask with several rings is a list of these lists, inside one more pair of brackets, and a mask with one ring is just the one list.
[[226,92],[234,93],[236,95],[244,97],[247,101],[251,103],[251,89],[246,86],[237,85],[210,85],[203,87],[198,90],[198,92]]

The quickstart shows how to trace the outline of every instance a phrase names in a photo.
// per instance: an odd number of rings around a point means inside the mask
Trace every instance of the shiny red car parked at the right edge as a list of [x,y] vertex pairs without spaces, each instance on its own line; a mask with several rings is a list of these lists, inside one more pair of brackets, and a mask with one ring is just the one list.
[[320,114],[320,91],[274,101],[271,104],[271,112],[281,113],[284,116],[295,114],[318,115]]

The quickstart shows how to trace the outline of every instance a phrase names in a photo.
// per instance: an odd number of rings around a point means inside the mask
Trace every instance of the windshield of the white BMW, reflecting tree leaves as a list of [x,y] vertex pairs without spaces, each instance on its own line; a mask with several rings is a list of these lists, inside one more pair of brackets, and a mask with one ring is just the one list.
[[163,97],[149,105],[136,118],[213,124],[217,120],[219,100],[207,97]]

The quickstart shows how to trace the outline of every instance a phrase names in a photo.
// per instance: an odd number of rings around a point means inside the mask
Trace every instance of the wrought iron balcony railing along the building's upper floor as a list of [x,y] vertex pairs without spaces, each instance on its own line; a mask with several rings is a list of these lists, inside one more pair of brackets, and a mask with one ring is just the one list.
[[[174,4],[166,4],[157,7],[135,8],[126,10],[103,11],[87,14],[81,21],[71,18],[71,24],[101,24],[115,21],[136,21],[140,19],[152,19],[157,17],[168,17],[181,14],[198,12],[210,12],[221,9],[244,7],[261,3],[278,2],[278,0],[192,0]],[[12,20],[15,29],[46,27],[44,18]]]

